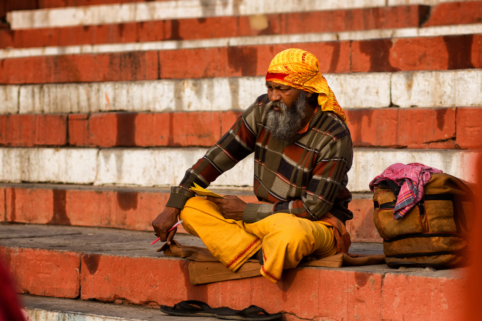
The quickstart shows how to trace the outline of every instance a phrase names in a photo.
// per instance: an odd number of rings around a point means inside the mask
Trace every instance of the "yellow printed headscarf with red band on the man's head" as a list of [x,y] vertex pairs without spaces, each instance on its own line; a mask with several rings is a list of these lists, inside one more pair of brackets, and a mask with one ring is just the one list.
[[325,77],[321,75],[320,62],[311,52],[296,48],[281,51],[271,60],[266,81],[319,93],[318,104],[321,110],[334,112],[347,124],[345,112],[336,101]]

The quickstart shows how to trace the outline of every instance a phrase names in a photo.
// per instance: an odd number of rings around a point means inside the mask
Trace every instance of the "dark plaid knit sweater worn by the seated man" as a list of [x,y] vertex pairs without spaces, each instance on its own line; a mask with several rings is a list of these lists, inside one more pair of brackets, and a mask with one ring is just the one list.
[[[353,159],[348,127],[331,112],[317,113],[308,130],[291,141],[270,139],[268,95],[259,96],[233,127],[171,188],[166,206],[183,208],[193,182],[206,188],[219,175],[254,152],[254,194],[270,204],[248,203],[242,220],[253,223],[274,213],[319,220],[330,212],[344,224],[353,218],[346,188]],[[246,173],[248,174],[248,173]]]

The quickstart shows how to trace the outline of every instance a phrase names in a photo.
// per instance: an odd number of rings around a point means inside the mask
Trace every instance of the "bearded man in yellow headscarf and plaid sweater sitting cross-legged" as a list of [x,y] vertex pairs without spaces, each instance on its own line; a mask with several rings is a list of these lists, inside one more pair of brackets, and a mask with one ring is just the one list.
[[[268,94],[259,96],[171,188],[166,208],[152,222],[161,241],[171,244],[175,230],[166,231],[179,217],[228,269],[236,271],[260,254],[261,273],[276,283],[283,269],[304,257],[347,253],[352,142],[345,113],[319,67],[318,59],[301,49],[273,58]],[[229,195],[193,197],[193,183],[207,187],[253,152],[259,202],[246,204]]]

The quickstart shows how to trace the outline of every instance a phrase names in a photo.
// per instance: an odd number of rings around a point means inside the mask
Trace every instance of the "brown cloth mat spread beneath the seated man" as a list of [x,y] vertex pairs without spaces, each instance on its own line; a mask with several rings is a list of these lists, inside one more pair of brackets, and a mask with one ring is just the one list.
[[[189,280],[193,285],[251,278],[261,275],[261,265],[259,265],[258,260],[247,260],[236,272],[232,272],[223,263],[213,257],[207,248],[182,245],[176,240],[173,240],[173,244],[171,245],[162,245],[157,251],[164,251],[164,255],[168,257],[184,257],[190,260]],[[357,257],[350,257],[347,254],[340,253],[315,261],[301,262],[298,266],[341,268],[342,266],[372,264],[385,264],[385,255],[358,255]]]

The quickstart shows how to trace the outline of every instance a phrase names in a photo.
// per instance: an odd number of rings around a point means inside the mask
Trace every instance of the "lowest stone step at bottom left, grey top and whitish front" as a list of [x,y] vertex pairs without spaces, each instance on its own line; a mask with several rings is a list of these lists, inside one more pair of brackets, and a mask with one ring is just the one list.
[[[68,299],[48,296],[19,295],[30,320],[89,320],[89,321],[205,321],[202,317],[176,317],[162,313],[158,308],[146,306],[117,305],[96,300]],[[43,317],[43,318],[42,318]]]

